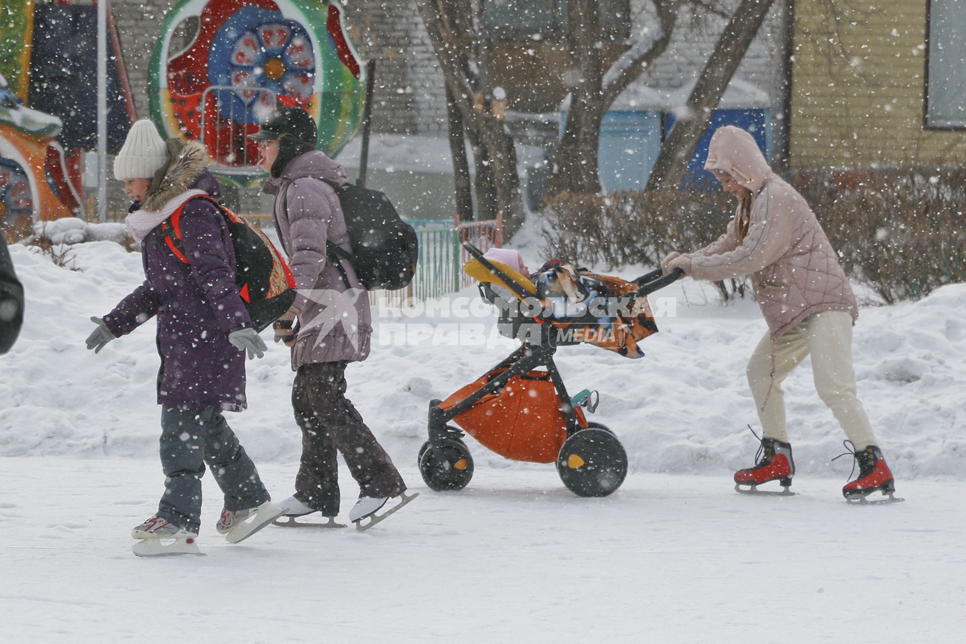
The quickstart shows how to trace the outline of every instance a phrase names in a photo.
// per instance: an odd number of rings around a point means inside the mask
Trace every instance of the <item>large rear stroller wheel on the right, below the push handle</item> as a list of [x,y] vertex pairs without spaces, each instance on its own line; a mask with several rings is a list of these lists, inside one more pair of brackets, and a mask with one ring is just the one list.
[[607,496],[624,483],[627,452],[603,425],[581,430],[563,443],[556,471],[578,496]]

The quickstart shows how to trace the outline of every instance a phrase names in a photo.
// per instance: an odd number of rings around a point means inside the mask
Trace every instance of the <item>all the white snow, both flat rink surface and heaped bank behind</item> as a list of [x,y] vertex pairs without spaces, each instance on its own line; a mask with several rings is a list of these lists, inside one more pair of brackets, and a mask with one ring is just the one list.
[[[652,298],[667,315],[643,359],[557,353],[573,392],[601,392],[594,419],[627,447],[631,473],[611,497],[575,497],[553,466],[471,440],[469,488],[426,490],[413,461],[428,402],[513,344],[491,333],[488,311],[383,312],[349,396],[420,498],[366,534],[270,528],[227,546],[207,480],[208,555],[144,561],[128,534],[161,486],[154,323],[98,355],[83,344],[90,316],[143,279],[140,256],[81,244],[71,271],[11,252],[28,303],[0,357],[3,641],[905,643],[958,641],[966,627],[966,285],[864,308],[855,328],[859,394],[906,503],[841,499],[851,463],[830,462],[844,436],[808,363],[785,385],[802,494],[731,490],[756,447],[744,365],[765,324],[753,302],[722,307],[687,280]],[[412,342],[398,341],[399,324]],[[460,335],[468,325],[482,342]],[[271,345],[249,363],[249,409],[229,414],[276,497],[291,493],[299,453],[292,378]],[[355,487],[343,490],[350,502]]]

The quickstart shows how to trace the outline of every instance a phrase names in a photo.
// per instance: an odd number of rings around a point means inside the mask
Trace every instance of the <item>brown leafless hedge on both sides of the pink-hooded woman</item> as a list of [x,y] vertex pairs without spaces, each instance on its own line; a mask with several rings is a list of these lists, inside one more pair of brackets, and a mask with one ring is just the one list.
[[[799,171],[789,181],[810,204],[846,273],[883,301],[918,299],[966,281],[966,169]],[[563,193],[548,202],[554,257],[609,268],[657,266],[725,232],[735,200],[724,191]],[[716,283],[723,299],[743,281]]]

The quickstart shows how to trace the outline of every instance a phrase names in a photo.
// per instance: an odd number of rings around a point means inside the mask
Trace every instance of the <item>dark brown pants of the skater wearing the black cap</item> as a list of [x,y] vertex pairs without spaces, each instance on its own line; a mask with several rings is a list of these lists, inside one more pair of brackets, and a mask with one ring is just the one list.
[[346,362],[321,362],[298,368],[292,407],[302,431],[302,456],[296,498],[325,517],[339,514],[342,454],[362,496],[396,496],[406,484],[355,406],[345,397]]

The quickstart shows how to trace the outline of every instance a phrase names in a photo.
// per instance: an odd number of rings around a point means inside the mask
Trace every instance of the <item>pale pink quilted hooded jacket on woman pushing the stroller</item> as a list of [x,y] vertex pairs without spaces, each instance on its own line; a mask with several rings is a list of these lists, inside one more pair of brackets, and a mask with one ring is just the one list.
[[855,322],[855,295],[829,238],[802,195],[772,172],[752,135],[718,128],[704,168],[726,172],[751,190],[752,216],[741,243],[735,218],[725,235],[691,254],[692,277],[751,275],[773,339],[819,311],[847,311]]

